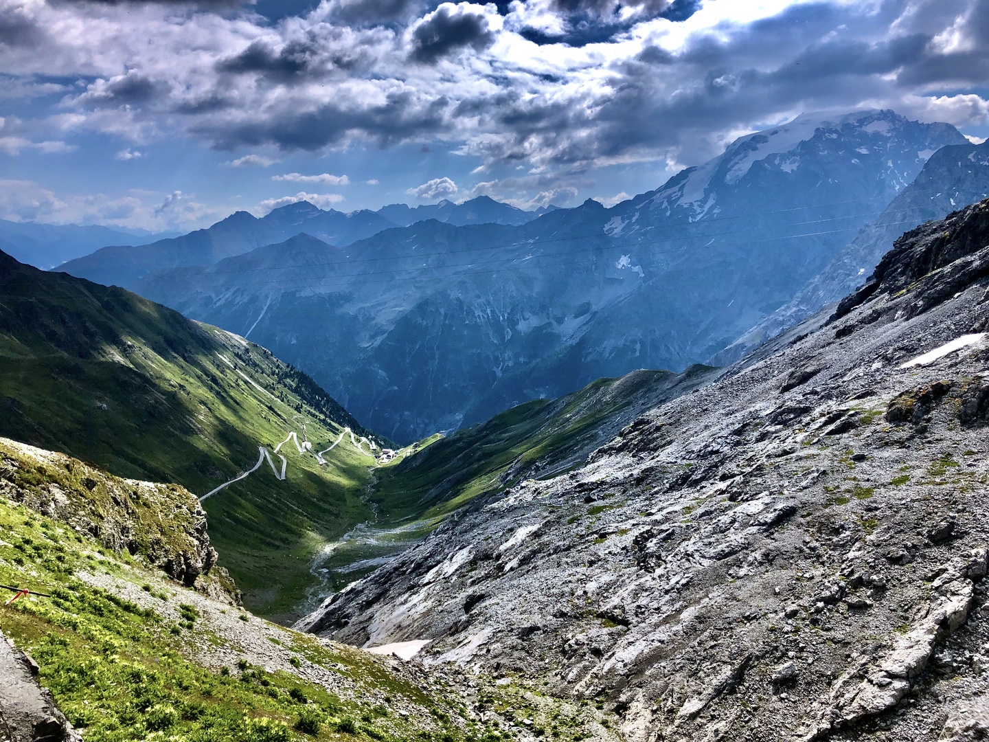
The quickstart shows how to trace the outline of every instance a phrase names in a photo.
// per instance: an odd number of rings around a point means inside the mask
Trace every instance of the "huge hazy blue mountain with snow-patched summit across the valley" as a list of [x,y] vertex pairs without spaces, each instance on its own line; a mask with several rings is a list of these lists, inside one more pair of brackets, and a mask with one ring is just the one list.
[[249,333],[405,443],[599,377],[703,362],[965,141],[892,111],[801,117],[611,209],[419,222],[345,248],[290,240],[134,288]]

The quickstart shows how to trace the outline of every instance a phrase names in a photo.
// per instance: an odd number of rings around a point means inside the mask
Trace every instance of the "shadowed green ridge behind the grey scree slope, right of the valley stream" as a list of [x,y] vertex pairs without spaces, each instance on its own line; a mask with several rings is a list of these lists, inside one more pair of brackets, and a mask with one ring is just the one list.
[[366,502],[375,517],[328,544],[314,560],[324,583],[307,599],[322,599],[369,574],[417,543],[447,517],[513,487],[584,462],[628,422],[661,402],[689,394],[717,370],[682,374],[633,371],[598,379],[558,400],[535,400],[478,425],[421,441],[401,461],[375,470]]

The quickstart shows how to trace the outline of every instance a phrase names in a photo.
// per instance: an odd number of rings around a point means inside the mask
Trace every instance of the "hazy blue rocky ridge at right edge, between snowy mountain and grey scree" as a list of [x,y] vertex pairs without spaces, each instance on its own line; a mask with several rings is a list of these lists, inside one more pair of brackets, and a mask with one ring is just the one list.
[[827,268],[790,301],[724,350],[713,363],[738,360],[766,338],[796,325],[821,307],[837,302],[865,282],[872,266],[903,232],[934,219],[944,219],[959,206],[989,196],[989,145],[951,144],[931,155],[924,169],[862,228]]

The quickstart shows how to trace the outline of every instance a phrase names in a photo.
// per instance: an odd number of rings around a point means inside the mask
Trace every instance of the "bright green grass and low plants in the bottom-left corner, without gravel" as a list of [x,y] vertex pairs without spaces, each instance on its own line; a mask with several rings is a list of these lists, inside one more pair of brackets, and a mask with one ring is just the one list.
[[[427,721],[341,699],[296,675],[270,673],[246,660],[232,671],[204,667],[189,654],[196,651],[189,635],[174,631],[178,626],[157,609],[79,577],[83,571],[107,572],[118,584],[153,594],[153,588],[142,590],[150,586],[148,580],[157,580],[151,573],[123,564],[112,553],[105,558],[88,535],[2,498],[0,530],[0,583],[51,596],[0,608],[0,628],[38,662],[40,682],[88,742],[290,742],[338,739],[341,734],[379,742],[474,739],[473,727],[457,709],[392,675],[371,655],[326,646],[288,629],[283,629],[283,644],[292,644],[321,667],[348,669],[341,675],[356,698],[401,696]],[[177,608],[182,623],[193,623],[211,644],[225,643],[196,605],[183,602]],[[235,645],[229,649],[241,651]]]

